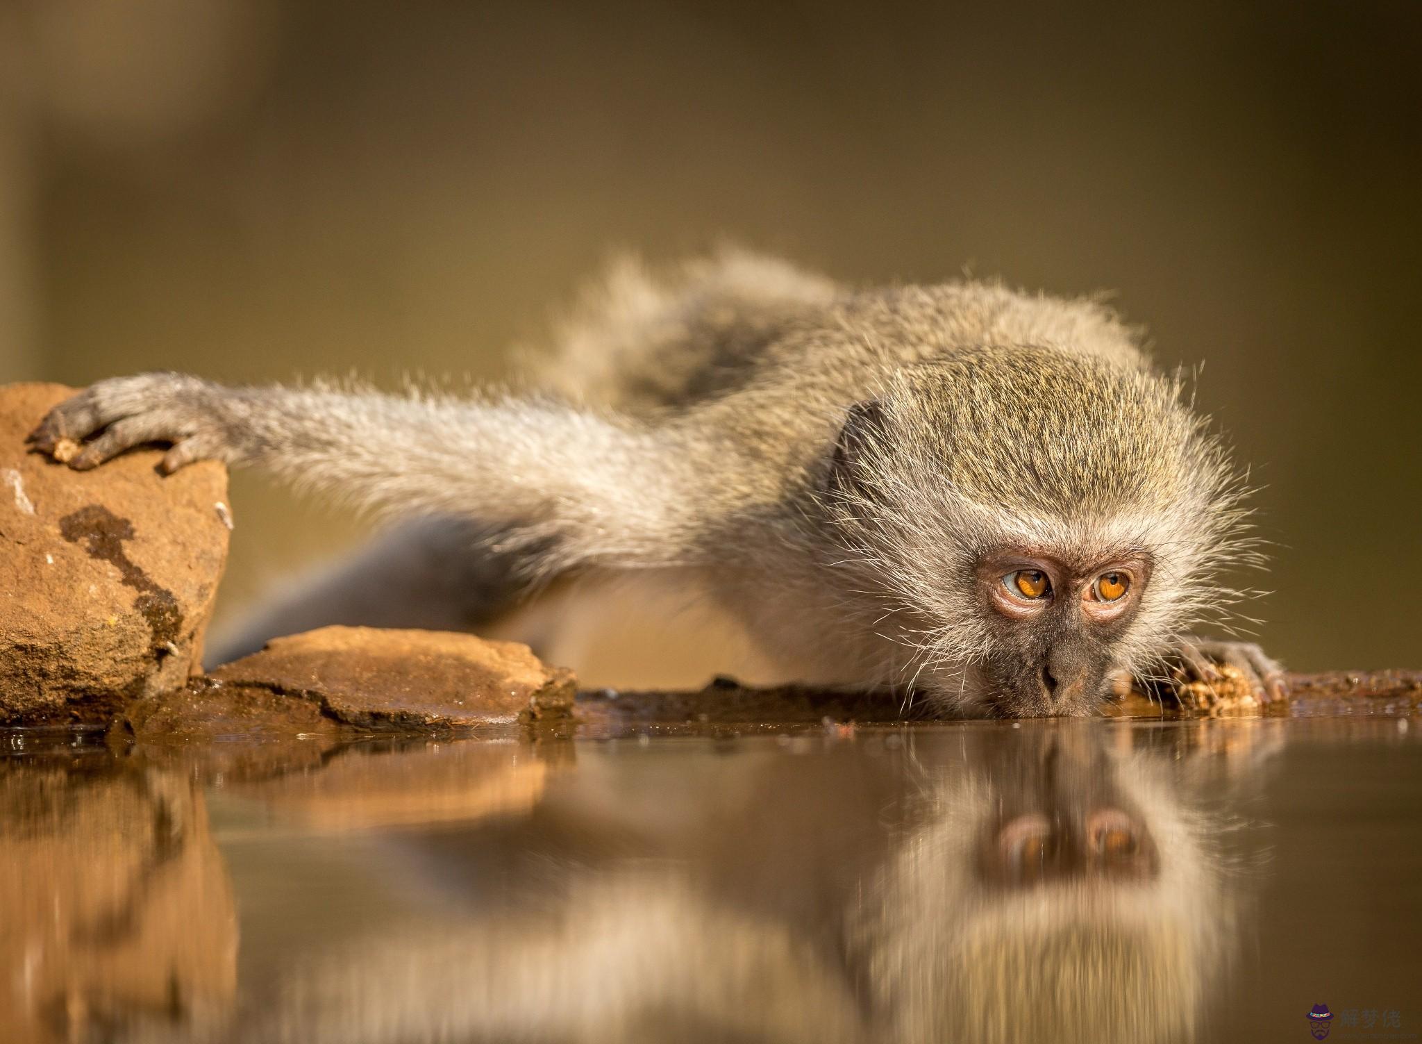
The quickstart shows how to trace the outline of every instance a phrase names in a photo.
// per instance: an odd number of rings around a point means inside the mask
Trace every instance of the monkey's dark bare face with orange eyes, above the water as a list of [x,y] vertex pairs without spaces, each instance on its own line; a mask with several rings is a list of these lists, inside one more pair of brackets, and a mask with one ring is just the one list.
[[1150,576],[1145,555],[1069,560],[1035,549],[977,566],[990,650],[981,696],[1004,715],[1091,714],[1121,667],[1121,639]]

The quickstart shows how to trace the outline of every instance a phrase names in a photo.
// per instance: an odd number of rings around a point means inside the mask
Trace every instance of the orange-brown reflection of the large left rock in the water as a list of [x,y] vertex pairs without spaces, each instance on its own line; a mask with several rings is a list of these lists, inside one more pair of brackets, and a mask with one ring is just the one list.
[[220,1024],[236,953],[201,788],[105,754],[0,761],[6,1041]]

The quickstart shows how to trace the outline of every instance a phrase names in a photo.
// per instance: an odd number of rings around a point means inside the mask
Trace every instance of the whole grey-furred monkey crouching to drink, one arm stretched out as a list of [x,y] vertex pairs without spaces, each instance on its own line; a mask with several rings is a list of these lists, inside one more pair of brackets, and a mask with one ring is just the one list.
[[1194,636],[1244,595],[1221,572],[1260,553],[1243,475],[1142,336],[1099,297],[850,287],[725,250],[614,265],[509,387],[151,373],[30,441],[78,442],[77,469],[164,444],[164,472],[253,465],[418,519],[259,640],[350,604],[474,626],[560,579],[673,577],[793,677],[906,710],[1086,715],[1128,678],[1230,671],[1276,700],[1257,644]]

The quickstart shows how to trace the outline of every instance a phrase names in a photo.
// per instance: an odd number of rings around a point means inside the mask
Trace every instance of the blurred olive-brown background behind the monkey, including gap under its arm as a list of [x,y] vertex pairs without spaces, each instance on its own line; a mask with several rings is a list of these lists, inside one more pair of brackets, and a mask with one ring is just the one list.
[[[721,238],[1108,289],[1266,486],[1266,646],[1422,667],[1419,46],[1367,0],[0,0],[0,380],[495,377],[609,252]],[[360,535],[233,501],[229,620]]]

